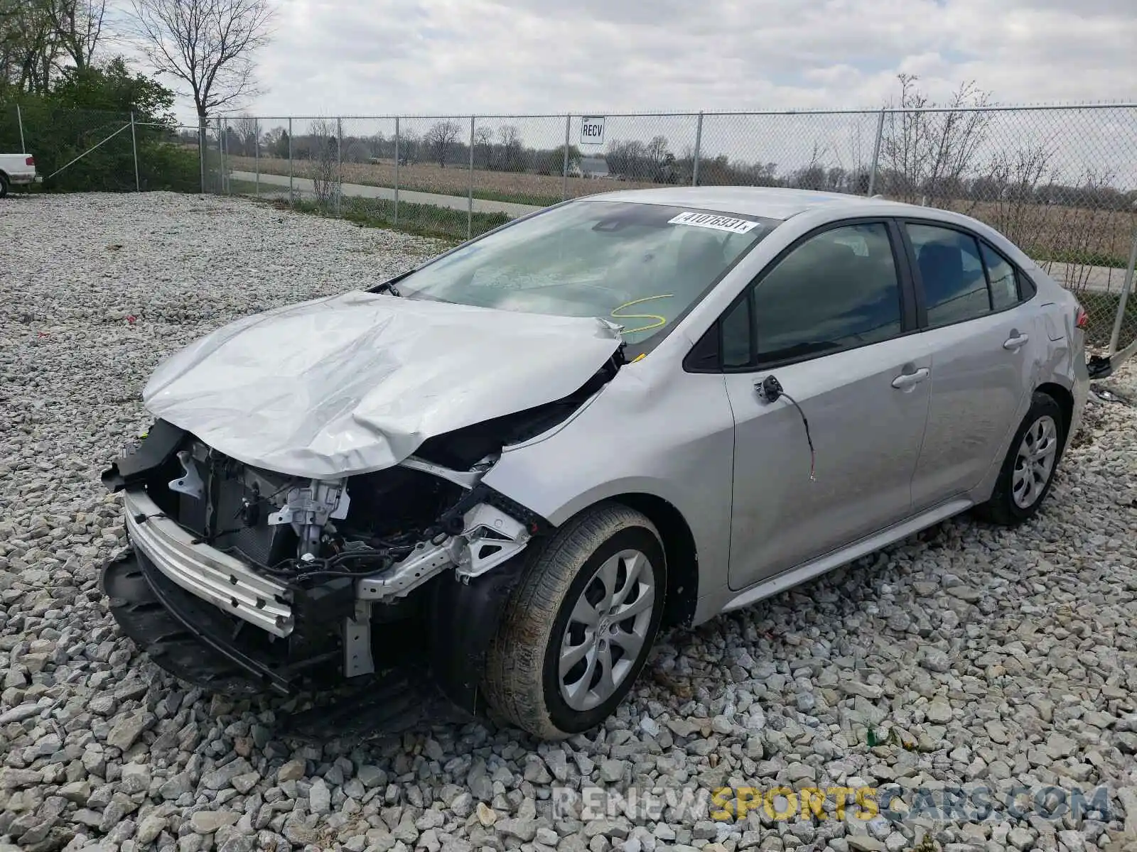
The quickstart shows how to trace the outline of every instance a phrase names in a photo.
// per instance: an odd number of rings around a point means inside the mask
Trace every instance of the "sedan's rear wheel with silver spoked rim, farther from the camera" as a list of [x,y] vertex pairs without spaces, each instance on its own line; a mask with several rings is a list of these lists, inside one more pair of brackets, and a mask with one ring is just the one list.
[[1036,392],[1011,441],[995,491],[979,513],[1003,526],[1034,517],[1051,491],[1064,442],[1062,408],[1053,396]]

